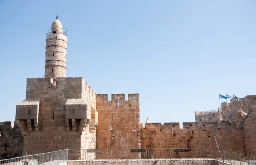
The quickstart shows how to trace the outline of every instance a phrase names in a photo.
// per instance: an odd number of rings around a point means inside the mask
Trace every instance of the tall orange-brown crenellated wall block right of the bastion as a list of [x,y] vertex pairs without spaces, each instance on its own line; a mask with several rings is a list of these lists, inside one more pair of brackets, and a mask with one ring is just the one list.
[[140,148],[139,94],[97,94],[97,111],[97,149]]

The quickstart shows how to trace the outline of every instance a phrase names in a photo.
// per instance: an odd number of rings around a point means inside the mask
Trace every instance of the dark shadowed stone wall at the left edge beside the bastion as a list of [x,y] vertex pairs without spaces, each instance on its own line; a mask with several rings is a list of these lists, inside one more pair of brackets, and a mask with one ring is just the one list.
[[21,156],[23,137],[12,122],[0,122],[0,159]]

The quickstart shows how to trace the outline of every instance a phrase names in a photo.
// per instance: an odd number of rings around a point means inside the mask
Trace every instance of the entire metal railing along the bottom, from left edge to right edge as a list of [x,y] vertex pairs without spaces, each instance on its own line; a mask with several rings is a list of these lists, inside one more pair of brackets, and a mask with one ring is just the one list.
[[[76,161],[72,161],[76,160]],[[78,161],[77,161],[78,160]],[[79,161],[80,160],[80,161]],[[145,161],[158,161],[157,164],[210,165],[222,162],[227,165],[256,165],[256,154],[244,152],[204,149],[66,149],[61,151],[33,154],[24,157],[0,160],[0,165],[76,165],[79,162],[101,164],[140,164]],[[172,162],[174,161],[174,162]],[[160,163],[161,162],[161,163]],[[155,163],[156,164],[156,163]],[[77,164],[79,165],[79,164]]]

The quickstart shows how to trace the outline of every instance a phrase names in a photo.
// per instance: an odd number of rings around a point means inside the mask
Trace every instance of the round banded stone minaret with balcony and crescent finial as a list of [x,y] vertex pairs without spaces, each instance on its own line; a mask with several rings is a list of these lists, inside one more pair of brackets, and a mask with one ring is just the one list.
[[67,35],[63,33],[62,24],[58,20],[52,22],[52,31],[48,31],[45,50],[45,78],[66,77],[67,70]]

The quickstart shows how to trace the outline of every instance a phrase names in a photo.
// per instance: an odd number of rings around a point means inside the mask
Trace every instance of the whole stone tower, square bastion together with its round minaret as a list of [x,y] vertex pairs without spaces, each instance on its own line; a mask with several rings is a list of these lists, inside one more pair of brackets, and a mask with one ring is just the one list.
[[82,77],[66,77],[67,36],[58,18],[48,31],[45,54],[45,77],[27,78],[26,99],[16,106],[22,154],[95,149],[96,93]]

